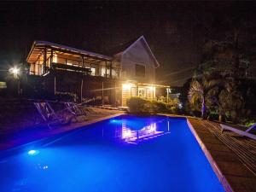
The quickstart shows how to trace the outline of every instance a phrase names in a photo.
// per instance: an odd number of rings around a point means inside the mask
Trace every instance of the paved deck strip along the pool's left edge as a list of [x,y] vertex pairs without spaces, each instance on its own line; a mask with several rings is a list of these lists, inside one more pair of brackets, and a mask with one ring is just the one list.
[[49,129],[45,127],[44,129],[36,129],[30,132],[30,134],[22,134],[22,132],[15,134],[15,137],[9,137],[6,139],[2,139],[3,141],[0,142],[0,150],[6,150],[9,148],[15,148],[20,145],[31,143],[33,141],[46,138],[46,137],[53,137],[61,133],[74,131],[83,128],[85,125],[90,125],[105,119],[110,119],[113,117],[117,117],[123,114],[122,111],[118,110],[107,110],[107,109],[95,109],[97,113],[92,113],[87,115],[87,120],[80,123],[72,123],[70,125],[63,125],[61,127],[55,129]]

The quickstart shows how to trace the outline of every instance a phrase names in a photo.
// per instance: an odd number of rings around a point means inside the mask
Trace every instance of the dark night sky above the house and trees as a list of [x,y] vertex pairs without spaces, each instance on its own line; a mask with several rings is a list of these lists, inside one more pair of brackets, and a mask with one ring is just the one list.
[[104,53],[144,35],[159,81],[181,85],[200,63],[202,44],[234,17],[255,21],[256,3],[1,2],[0,67],[19,63],[35,39]]

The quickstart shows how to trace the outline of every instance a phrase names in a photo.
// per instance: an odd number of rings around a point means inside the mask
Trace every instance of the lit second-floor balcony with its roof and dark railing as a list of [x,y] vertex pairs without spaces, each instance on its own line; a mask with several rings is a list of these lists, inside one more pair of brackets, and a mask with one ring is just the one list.
[[34,75],[53,69],[119,79],[120,73],[120,63],[112,57],[49,42],[34,42],[26,61]]

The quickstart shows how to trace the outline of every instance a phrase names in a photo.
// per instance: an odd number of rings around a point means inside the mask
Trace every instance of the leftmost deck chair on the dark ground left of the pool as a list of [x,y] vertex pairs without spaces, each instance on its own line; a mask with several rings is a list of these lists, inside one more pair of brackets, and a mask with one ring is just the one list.
[[55,110],[51,108],[49,102],[34,102],[34,105],[49,128],[51,128],[52,125],[64,125],[67,123],[64,118],[55,113]]

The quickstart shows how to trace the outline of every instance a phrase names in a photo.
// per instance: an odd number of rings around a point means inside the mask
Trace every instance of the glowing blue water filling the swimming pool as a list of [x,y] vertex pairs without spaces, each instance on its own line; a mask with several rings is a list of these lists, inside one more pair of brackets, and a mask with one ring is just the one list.
[[0,191],[224,191],[186,119],[122,115],[1,157]]

